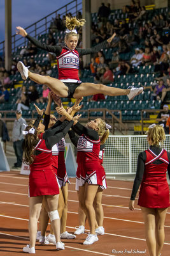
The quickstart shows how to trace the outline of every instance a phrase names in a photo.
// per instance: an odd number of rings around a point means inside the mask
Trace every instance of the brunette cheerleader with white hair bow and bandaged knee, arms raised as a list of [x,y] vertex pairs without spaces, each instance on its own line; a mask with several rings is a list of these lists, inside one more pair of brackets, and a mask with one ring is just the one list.
[[[39,111],[40,113],[42,115],[43,112]],[[60,218],[57,211],[59,186],[52,169],[52,147],[69,131],[73,125],[73,118],[67,115],[69,122],[67,120],[64,121],[68,124],[63,131],[55,134],[55,129],[53,129],[55,135],[47,136],[45,140],[41,140],[38,134],[38,131],[42,130],[41,127],[38,130],[41,115],[38,115],[34,125],[27,125],[25,131],[23,131],[23,134],[25,134],[23,143],[24,163],[29,164],[31,170],[29,175],[30,244],[23,248],[26,253],[35,253],[37,223],[43,200],[46,204],[46,209],[48,209],[48,216],[55,234],[56,248],[57,250],[64,250],[64,244],[60,242]]]

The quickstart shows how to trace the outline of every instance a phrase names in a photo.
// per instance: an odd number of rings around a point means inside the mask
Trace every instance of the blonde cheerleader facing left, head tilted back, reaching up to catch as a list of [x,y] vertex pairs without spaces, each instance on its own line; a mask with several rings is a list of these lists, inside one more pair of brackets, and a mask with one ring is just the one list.
[[[57,112],[64,115],[61,108],[57,108]],[[78,167],[80,168],[79,200],[90,226],[90,234],[83,244],[93,244],[98,240],[95,232],[94,198],[99,186],[103,186],[103,170],[99,163],[100,143],[104,143],[108,138],[109,129],[106,128],[106,123],[101,118],[89,122],[87,127],[78,122],[72,128],[80,136],[77,143]]]

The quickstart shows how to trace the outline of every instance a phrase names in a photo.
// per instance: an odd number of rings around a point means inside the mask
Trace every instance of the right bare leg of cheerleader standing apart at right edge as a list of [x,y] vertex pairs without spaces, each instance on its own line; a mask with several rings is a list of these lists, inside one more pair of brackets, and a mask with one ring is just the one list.
[[156,216],[155,216],[155,236],[156,236],[156,241],[157,241],[157,252],[156,255],[159,256],[163,245],[165,241],[165,231],[164,231],[164,224],[166,220],[166,213],[167,213],[167,208],[165,209],[157,209]]

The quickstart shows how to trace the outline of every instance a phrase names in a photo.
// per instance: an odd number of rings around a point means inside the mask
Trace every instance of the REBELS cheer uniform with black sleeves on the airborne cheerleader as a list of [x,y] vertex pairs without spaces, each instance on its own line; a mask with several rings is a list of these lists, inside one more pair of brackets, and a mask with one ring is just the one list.
[[89,49],[76,48],[71,51],[67,46],[52,46],[42,44],[32,36],[27,35],[27,39],[36,47],[54,52],[57,56],[57,67],[59,70],[59,80],[62,81],[68,88],[68,98],[73,98],[74,91],[82,83],[78,77],[79,56],[92,54],[106,48],[108,42],[105,40],[101,44]]

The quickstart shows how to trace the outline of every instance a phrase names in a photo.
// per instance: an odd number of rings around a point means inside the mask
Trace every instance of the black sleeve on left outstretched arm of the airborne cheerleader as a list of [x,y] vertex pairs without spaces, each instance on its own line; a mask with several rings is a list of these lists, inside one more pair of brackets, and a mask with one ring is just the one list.
[[48,52],[54,52],[57,56],[60,55],[60,53],[62,52],[62,47],[60,46],[52,46],[52,45],[46,45],[46,44],[42,44],[41,42],[39,42],[38,40],[36,40],[35,38],[33,38],[30,35],[27,35],[26,38],[34,45],[36,45],[36,47],[46,50]]

